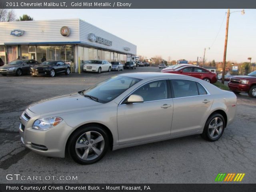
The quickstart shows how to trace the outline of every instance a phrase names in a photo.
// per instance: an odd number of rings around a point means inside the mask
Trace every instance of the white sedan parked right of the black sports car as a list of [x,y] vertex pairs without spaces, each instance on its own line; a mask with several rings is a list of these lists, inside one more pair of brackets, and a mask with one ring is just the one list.
[[112,68],[111,63],[106,60],[89,60],[88,63],[84,64],[84,71],[98,72],[102,71],[110,72]]

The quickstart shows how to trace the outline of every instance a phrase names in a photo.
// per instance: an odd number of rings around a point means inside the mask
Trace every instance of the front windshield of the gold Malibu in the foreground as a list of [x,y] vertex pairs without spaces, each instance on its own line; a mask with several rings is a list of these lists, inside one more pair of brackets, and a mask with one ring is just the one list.
[[100,103],[107,103],[118,97],[140,80],[141,79],[126,76],[114,76],[79,93],[88,98],[90,98],[89,96],[92,96],[93,100],[96,98]]

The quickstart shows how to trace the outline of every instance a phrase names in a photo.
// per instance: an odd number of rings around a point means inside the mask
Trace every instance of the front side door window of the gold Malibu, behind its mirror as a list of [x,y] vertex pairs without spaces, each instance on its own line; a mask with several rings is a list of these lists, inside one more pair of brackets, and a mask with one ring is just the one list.
[[159,80],[145,84],[132,94],[142,96],[145,101],[162,100],[168,98],[166,80]]

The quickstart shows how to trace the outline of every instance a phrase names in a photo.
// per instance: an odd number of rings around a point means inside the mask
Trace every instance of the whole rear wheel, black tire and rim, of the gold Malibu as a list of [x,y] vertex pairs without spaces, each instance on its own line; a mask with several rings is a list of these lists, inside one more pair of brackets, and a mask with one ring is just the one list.
[[212,142],[217,141],[222,136],[225,125],[225,120],[221,114],[212,114],[205,123],[204,131],[201,134],[202,138]]

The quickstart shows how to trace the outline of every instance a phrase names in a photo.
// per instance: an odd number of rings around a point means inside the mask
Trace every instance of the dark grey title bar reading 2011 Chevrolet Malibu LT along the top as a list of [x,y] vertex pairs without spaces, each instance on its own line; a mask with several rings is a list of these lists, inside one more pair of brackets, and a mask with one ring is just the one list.
[[255,0],[0,0],[11,9],[256,8]]

